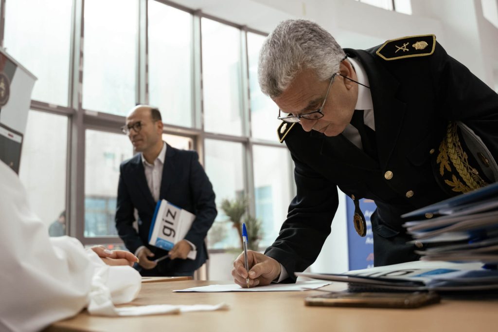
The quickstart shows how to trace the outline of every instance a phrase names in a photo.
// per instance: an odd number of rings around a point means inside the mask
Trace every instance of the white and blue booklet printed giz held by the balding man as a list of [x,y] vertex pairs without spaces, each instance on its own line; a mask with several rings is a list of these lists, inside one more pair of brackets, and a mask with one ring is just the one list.
[[[158,201],[150,225],[149,244],[171,250],[175,243],[185,238],[194,219],[195,215],[189,211],[165,199]],[[187,258],[195,259],[196,256],[197,251],[191,250]]]

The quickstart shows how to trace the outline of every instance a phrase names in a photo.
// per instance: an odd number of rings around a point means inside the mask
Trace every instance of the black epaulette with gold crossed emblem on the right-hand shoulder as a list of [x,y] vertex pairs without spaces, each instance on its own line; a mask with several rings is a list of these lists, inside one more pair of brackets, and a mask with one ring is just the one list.
[[414,56],[426,56],[434,53],[436,36],[424,34],[387,40],[375,52],[384,60],[397,60]]

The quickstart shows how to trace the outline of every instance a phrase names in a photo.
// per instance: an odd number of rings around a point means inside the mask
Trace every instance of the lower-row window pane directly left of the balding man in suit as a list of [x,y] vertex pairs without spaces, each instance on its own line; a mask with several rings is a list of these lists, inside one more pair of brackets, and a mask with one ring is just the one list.
[[123,134],[87,130],[85,147],[85,237],[117,235],[114,222],[120,164],[133,155]]

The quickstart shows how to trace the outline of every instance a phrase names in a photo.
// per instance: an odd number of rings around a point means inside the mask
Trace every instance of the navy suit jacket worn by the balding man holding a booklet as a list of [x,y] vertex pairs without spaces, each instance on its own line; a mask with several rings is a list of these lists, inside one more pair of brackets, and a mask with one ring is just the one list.
[[[157,270],[164,275],[168,272],[193,272],[208,258],[204,239],[217,215],[213,186],[195,151],[178,150],[167,145],[159,194],[161,199],[196,215],[185,239],[196,246],[197,257],[195,260],[166,259],[158,263]],[[147,185],[141,154],[136,154],[120,166],[116,209],[118,234],[132,253],[142,245],[149,248],[156,258],[168,253],[148,244],[156,203]],[[132,226],[135,208],[138,211],[138,233]]]

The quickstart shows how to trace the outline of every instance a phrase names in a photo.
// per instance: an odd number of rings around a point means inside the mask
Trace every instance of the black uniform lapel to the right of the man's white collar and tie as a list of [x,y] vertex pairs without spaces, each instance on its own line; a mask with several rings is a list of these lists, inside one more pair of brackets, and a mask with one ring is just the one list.
[[378,63],[371,54],[362,50],[346,50],[358,56],[369,77],[375,118],[375,139],[381,168],[396,146],[404,118],[405,103],[397,99],[399,82]]

